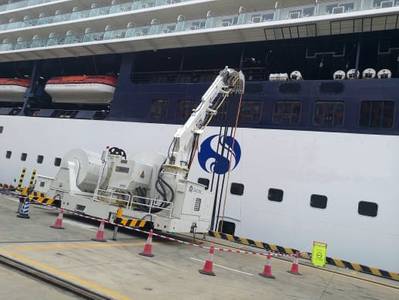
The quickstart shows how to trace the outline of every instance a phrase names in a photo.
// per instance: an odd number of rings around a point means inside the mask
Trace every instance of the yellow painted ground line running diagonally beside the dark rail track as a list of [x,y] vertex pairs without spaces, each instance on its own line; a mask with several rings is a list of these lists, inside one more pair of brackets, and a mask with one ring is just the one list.
[[74,274],[71,274],[71,273],[68,273],[68,272],[64,272],[64,271],[62,271],[60,269],[51,267],[51,266],[49,266],[47,264],[44,264],[44,263],[42,263],[40,261],[31,259],[31,258],[26,257],[24,255],[17,254],[17,253],[11,253],[11,252],[4,251],[4,250],[0,251],[0,253],[2,255],[4,255],[4,256],[7,256],[8,258],[18,260],[19,262],[21,262],[23,264],[26,264],[26,265],[28,265],[30,267],[39,269],[39,270],[41,270],[43,272],[47,272],[47,273],[49,273],[49,274],[51,274],[53,276],[62,278],[64,280],[73,282],[75,284],[83,286],[83,287],[85,287],[87,289],[90,289],[92,291],[95,291],[97,293],[106,295],[106,296],[111,297],[113,299],[117,299],[117,300],[129,300],[129,299],[131,299],[130,297],[128,297],[126,295],[123,295],[123,294],[121,294],[118,291],[115,291],[113,289],[109,289],[107,287],[104,287],[104,286],[102,286],[101,284],[99,284],[99,283],[97,283],[95,281],[84,279],[84,278],[81,278],[81,277],[76,276]]

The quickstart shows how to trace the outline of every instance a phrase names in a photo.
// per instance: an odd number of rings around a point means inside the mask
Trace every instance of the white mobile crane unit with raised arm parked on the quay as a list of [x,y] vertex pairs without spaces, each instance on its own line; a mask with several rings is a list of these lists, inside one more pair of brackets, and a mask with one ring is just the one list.
[[206,232],[213,197],[188,180],[198,140],[224,101],[243,94],[242,72],[226,67],[177,130],[167,155],[142,153],[127,158],[111,147],[102,155],[69,151],[55,178],[38,176],[36,191],[59,200],[61,207],[113,221],[119,207],[126,218],[147,220],[168,232]]

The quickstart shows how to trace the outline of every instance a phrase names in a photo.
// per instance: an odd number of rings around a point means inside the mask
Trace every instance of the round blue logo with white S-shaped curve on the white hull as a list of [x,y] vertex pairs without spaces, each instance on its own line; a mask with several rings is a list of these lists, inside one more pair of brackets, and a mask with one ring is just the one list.
[[201,168],[218,175],[226,174],[229,168],[234,170],[240,160],[241,147],[232,136],[212,135],[202,142],[198,152]]

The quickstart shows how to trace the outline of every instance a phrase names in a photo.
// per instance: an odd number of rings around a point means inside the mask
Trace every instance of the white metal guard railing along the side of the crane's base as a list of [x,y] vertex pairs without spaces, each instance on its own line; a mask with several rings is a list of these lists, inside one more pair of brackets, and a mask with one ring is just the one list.
[[106,203],[110,206],[122,207],[132,211],[143,211],[147,214],[163,213],[164,216],[171,218],[173,203],[161,199],[131,196],[129,193],[117,192],[112,190],[99,189],[93,196],[93,200]]

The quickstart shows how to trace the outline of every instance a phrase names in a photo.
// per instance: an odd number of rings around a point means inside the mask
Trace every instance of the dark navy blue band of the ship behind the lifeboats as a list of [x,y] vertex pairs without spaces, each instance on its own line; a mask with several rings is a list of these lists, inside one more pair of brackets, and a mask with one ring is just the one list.
[[[399,133],[397,30],[2,63],[0,77],[33,80],[24,105],[1,103],[0,113],[179,124],[225,65],[243,70],[248,81],[240,126]],[[336,70],[352,68],[387,68],[393,78],[332,80]],[[268,80],[293,70],[304,80]],[[111,105],[52,103],[46,81],[77,74],[118,76]],[[215,124],[233,124],[237,105],[227,104]]]

